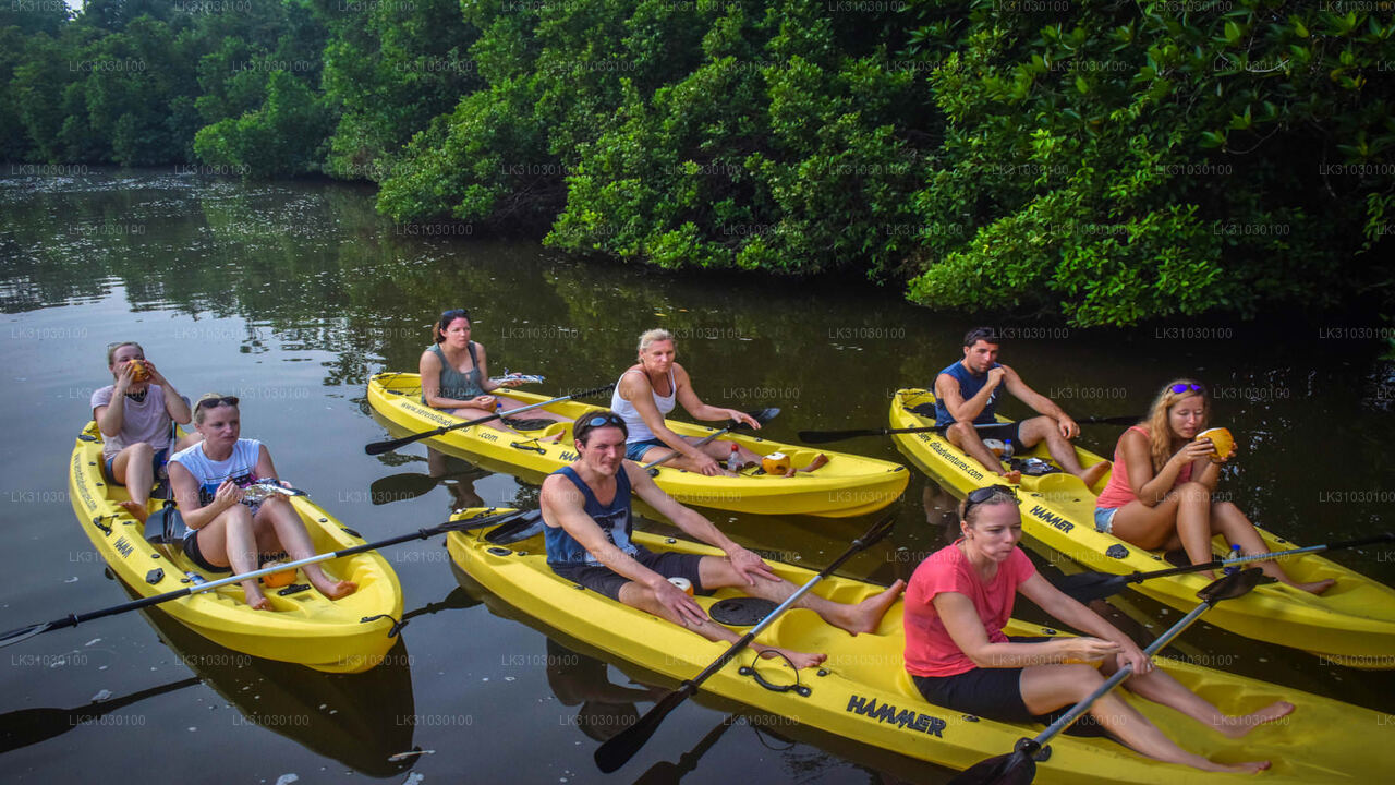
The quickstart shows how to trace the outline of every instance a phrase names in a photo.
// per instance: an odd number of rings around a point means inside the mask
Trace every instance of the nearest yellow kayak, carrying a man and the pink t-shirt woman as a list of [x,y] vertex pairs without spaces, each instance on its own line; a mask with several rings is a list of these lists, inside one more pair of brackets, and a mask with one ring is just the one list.
[[[466,510],[459,517],[492,513],[497,510]],[[506,528],[452,532],[446,546],[455,564],[470,578],[522,613],[675,680],[695,676],[727,650],[727,644],[710,643],[677,624],[579,589],[548,568],[537,527],[531,536],[516,542],[498,536]],[[491,538],[501,542],[491,542]],[[635,541],[653,550],[721,555],[703,545],[642,532],[635,532]],[[801,585],[815,575],[813,570],[778,562],[770,566],[780,577]],[[882,589],[875,584],[829,577],[813,591],[840,602],[858,602]],[[698,602],[711,608],[730,596],[737,594],[721,589],[714,596],[699,596]],[[1017,620],[1007,631],[1060,634]],[[986,757],[1006,754],[1018,739],[1039,731],[926,703],[904,669],[900,601],[870,634],[854,637],[830,627],[812,610],[794,609],[777,619],[760,640],[829,655],[822,668],[798,673],[799,684],[808,687],[806,694],[762,686],[751,668],[774,686],[792,684],[795,672],[749,652],[713,675],[702,690],[836,736],[951,768],[967,768]],[[1256,711],[1276,700],[1297,704],[1288,721],[1257,728],[1242,740],[1229,740],[1173,710],[1124,693],[1133,705],[1189,750],[1216,761],[1271,760],[1274,768],[1258,775],[1267,784],[1380,782],[1388,775],[1385,749],[1395,743],[1395,724],[1387,722],[1385,715],[1176,659],[1158,658],[1156,663],[1232,714]],[[1050,746],[1050,758],[1038,764],[1038,782],[1257,782],[1254,775],[1202,774],[1158,763],[1108,739],[1064,736],[1052,740]]]

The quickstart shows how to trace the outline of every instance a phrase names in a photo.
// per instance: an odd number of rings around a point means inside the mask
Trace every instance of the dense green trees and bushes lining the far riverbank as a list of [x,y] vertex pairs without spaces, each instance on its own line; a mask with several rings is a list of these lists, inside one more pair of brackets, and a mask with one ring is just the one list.
[[1392,34],[1345,0],[17,0],[0,156],[370,180],[398,222],[1077,325],[1395,313]]

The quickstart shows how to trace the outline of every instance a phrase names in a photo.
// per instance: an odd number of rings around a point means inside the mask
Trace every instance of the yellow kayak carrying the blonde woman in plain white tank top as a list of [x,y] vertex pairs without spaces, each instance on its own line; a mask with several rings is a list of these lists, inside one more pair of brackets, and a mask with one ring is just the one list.
[[[523,404],[538,404],[550,398],[516,390],[497,391]],[[388,422],[412,433],[434,430],[463,422],[460,418],[432,409],[421,402],[421,381],[414,373],[379,373],[368,380],[368,402]],[[578,418],[594,409],[594,404],[562,401],[545,406],[547,411]],[[527,418],[527,412],[519,415]],[[674,433],[707,436],[718,429],[665,420]],[[559,443],[541,441],[561,434]],[[534,439],[536,436],[536,439]],[[721,439],[738,441],[751,451],[769,455],[784,453],[795,468],[806,467],[819,455],[798,444],[781,444],[745,433],[725,433]],[[504,464],[511,472],[545,475],[576,461],[571,443],[571,423],[552,423],[544,430],[529,432],[527,437],[512,436],[478,425],[437,436],[430,443],[469,457]],[[734,513],[817,515],[845,518],[880,510],[905,490],[911,476],[905,467],[890,461],[864,458],[847,453],[823,451],[829,464],[813,472],[798,472],[792,478],[756,474],[755,468],[741,476],[704,476],[668,467],[658,467],[654,482],[665,493],[684,504],[731,510]]]

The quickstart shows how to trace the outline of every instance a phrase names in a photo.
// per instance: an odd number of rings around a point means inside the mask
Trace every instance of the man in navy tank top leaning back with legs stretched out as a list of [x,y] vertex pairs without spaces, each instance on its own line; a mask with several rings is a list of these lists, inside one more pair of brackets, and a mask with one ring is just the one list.
[[[587,412],[576,418],[572,434],[580,458],[548,475],[540,496],[547,524],[547,563],[558,575],[682,624],[710,641],[727,643],[737,641],[738,636],[709,619],[703,608],[668,578],[686,578],[702,594],[731,587],[773,602],[784,602],[795,592],[798,587],[777,577],[759,556],[728,539],[707,518],[674,501],[638,464],[626,461],[628,430],[618,415],[605,409]],[[635,543],[631,539],[632,492],[693,539],[721,549],[725,557],[656,553]],[[896,581],[884,592],[857,605],[808,594],[797,608],[808,608],[854,636],[870,633],[903,588],[905,581]],[[757,651],[787,656],[795,668],[826,659],[817,652],[753,645]]]

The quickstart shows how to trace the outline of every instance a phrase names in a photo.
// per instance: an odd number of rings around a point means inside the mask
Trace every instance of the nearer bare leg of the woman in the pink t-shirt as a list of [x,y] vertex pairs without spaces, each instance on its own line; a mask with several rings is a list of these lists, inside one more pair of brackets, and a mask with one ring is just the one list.
[[[1103,680],[1105,677],[1088,665],[1032,665],[1023,669],[1023,703],[1032,714],[1046,714],[1084,700],[1103,684]],[[1202,771],[1256,772],[1269,767],[1268,761],[1225,765],[1189,753],[1116,694],[1096,700],[1089,707],[1089,714],[1112,736],[1156,760],[1180,763]]]

